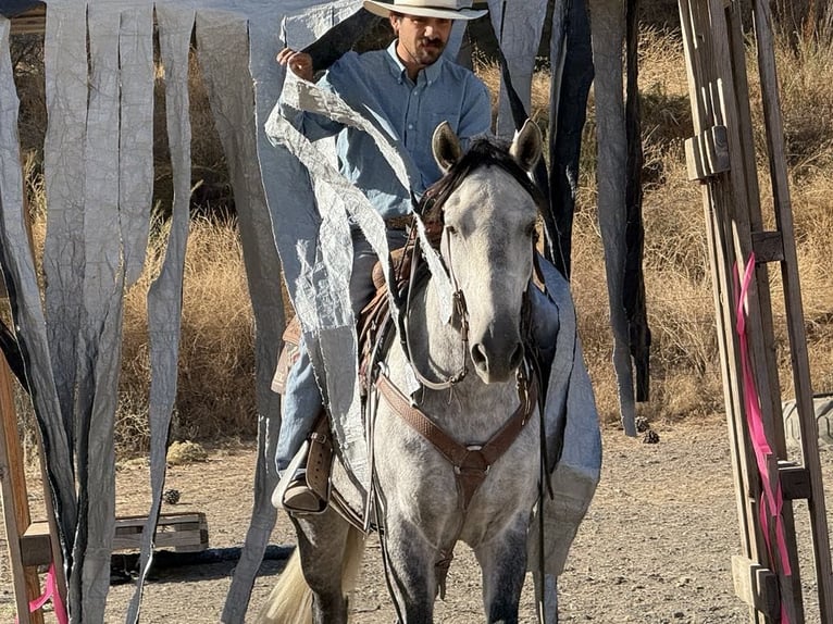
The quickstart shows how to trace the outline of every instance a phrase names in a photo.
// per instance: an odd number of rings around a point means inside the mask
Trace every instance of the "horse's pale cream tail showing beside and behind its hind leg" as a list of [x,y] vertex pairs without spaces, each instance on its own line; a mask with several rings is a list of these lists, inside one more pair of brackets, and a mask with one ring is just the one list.
[[[361,556],[364,551],[364,536],[350,528],[345,545],[341,564],[341,591],[349,595],[356,587]],[[312,590],[307,585],[301,570],[298,549],[281,573],[277,584],[269,595],[266,604],[258,614],[257,624],[312,624]]]

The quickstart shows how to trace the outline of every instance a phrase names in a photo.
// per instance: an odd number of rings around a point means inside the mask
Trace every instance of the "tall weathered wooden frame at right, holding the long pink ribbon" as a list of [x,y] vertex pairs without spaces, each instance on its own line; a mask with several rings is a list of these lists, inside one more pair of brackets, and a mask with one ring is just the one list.
[[[818,578],[821,622],[833,622],[830,544],[824,489],[813,419],[800,286],[784,163],[769,5],[756,0],[756,36],[763,90],[763,111],[775,199],[774,230],[764,229],[746,76],[746,46],[737,0],[679,0],[695,137],[686,142],[689,177],[701,183],[712,269],[718,339],[721,351],[726,422],[741,523],[742,556],[733,558],[735,591],[749,604],[751,622],[805,622],[792,500],[806,498]],[[747,351],[736,333],[738,273],[751,255],[755,273],[746,296]],[[784,283],[793,382],[799,408],[804,466],[786,461],[781,384],[775,360],[769,264],[778,263]],[[744,374],[748,358],[754,379]],[[749,430],[745,394],[757,395],[760,425],[771,452],[759,466]],[[760,449],[758,449],[760,450]],[[763,470],[761,474],[759,469]],[[784,500],[764,534],[764,478],[781,485]],[[781,523],[785,548],[776,546],[773,526]],[[790,573],[787,573],[790,571]]]

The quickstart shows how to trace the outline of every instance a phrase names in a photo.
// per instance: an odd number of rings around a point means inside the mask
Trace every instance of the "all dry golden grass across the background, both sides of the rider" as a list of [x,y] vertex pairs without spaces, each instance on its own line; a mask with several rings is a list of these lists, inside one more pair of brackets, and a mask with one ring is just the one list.
[[[824,43],[826,41],[826,43]],[[833,38],[816,38],[797,51],[778,48],[782,82],[784,136],[792,180],[796,244],[801,272],[808,349],[818,391],[833,390]],[[699,419],[722,410],[714,304],[706,245],[704,210],[698,185],[686,180],[683,140],[693,134],[688,86],[679,34],[647,30],[641,45],[641,91],[645,142],[645,279],[652,330],[651,400],[639,407],[652,420]],[[754,54],[749,75],[757,75]],[[496,92],[497,68],[481,63],[477,71]],[[26,80],[37,84],[30,76]],[[220,147],[199,103],[195,137],[198,179],[222,188],[225,172]],[[760,129],[760,96],[753,85],[751,107],[756,140]],[[196,95],[195,95],[196,93]],[[33,98],[35,102],[38,97]],[[546,128],[549,86],[545,73],[535,76],[533,115]],[[606,278],[595,214],[595,123],[593,99],[585,128],[581,188],[574,223],[573,292],[580,332],[605,422],[618,421],[616,380],[610,364]],[[26,117],[36,120],[33,112]],[[36,125],[36,124],[33,124]],[[204,138],[207,137],[207,138]],[[24,145],[26,138],[24,137]],[[766,188],[766,162],[762,187]],[[202,173],[206,176],[202,176]],[[210,175],[209,175],[210,174]],[[164,170],[160,174],[164,177]],[[30,196],[37,204],[42,189],[33,161]],[[220,182],[214,182],[220,180]],[[164,180],[161,180],[164,182]],[[208,187],[207,187],[208,188]],[[211,203],[212,197],[201,198]],[[42,199],[40,200],[42,201]],[[767,200],[764,200],[764,205]],[[42,238],[42,211],[35,211]],[[40,234],[38,234],[40,232]],[[121,448],[141,450],[148,444],[148,338],[145,297],[159,271],[164,238],[152,237],[148,269],[126,298],[124,364],[119,436]],[[780,279],[773,276],[775,297]],[[784,351],[783,313],[775,313],[780,350]],[[176,402],[177,439],[210,439],[254,432],[252,321],[246,290],[240,244],[235,223],[195,219],[186,262],[179,390]],[[782,358],[784,392],[791,391]]]

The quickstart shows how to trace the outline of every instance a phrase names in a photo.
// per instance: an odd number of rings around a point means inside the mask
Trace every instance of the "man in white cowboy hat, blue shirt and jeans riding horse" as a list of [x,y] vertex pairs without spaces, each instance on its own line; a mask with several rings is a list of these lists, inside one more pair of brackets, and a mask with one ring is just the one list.
[[[455,0],[394,0],[393,3],[365,0],[364,8],[389,20],[396,40],[385,50],[363,54],[347,52],[327,70],[319,85],[340,96],[356,110],[368,108],[374,112],[413,160],[420,174],[418,188],[401,187],[385,157],[365,133],[311,113],[301,113],[291,122],[311,140],[337,135],[340,172],[362,189],[385,219],[388,246],[393,250],[406,241],[405,223],[412,211],[409,190],[419,197],[440,177],[431,148],[434,128],[447,122],[463,148],[473,137],[489,133],[488,89],[471,71],[443,55],[453,22],[473,20],[486,12],[459,9]],[[277,60],[300,78],[313,79],[309,54],[285,48]],[[363,79],[356,80],[357,75]],[[376,255],[358,227],[352,228],[352,244],[350,300],[358,314],[375,292],[371,269]],[[276,451],[278,474],[283,479],[290,479],[283,496],[283,506],[289,511],[318,512],[326,506],[326,501],[308,487],[303,467],[294,474],[284,474],[312,432],[321,405],[312,364],[301,345],[298,360],[286,379]]]

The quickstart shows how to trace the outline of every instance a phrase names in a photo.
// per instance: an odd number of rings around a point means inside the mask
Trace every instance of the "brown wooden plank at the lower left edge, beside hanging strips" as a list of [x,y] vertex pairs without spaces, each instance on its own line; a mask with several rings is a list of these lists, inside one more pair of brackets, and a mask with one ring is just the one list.
[[25,567],[20,536],[29,526],[29,501],[23,471],[17,413],[12,392],[12,375],[0,355],[0,482],[2,482],[3,520],[14,585],[14,601],[21,624],[42,624],[40,610],[29,613],[29,600],[40,596],[37,569]]

